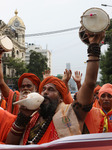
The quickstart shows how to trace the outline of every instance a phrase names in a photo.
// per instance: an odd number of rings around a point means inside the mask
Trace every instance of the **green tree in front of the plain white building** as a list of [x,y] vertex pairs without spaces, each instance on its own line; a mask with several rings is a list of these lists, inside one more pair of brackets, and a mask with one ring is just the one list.
[[34,73],[39,77],[40,80],[43,79],[43,74],[45,70],[49,69],[47,67],[47,58],[41,53],[31,50],[30,63],[28,64],[28,72]]

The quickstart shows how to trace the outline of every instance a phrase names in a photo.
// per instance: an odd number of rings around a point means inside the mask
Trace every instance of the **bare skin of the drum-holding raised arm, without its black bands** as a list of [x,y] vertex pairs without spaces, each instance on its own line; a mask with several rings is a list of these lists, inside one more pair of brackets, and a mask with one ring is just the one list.
[[[88,35],[88,38],[91,44],[100,44],[100,42],[104,38],[104,33],[100,33],[99,35],[95,35],[94,37],[89,37]],[[88,60],[98,60],[98,57],[89,56]],[[77,101],[82,105],[89,105],[93,101],[93,91],[97,80],[98,68],[99,61],[90,61],[87,63],[85,80],[77,93]],[[87,112],[84,112],[82,109],[75,109],[75,113],[82,130]]]

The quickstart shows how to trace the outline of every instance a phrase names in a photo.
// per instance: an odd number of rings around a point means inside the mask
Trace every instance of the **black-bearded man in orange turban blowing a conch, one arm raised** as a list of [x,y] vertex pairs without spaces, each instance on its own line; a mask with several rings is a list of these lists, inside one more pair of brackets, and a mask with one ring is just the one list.
[[39,86],[44,101],[33,114],[20,107],[20,113],[7,136],[6,144],[42,144],[82,133],[85,117],[92,108],[93,91],[99,67],[99,44],[104,33],[88,36],[88,60],[83,85],[77,101],[65,104],[67,87],[60,79],[50,76]]

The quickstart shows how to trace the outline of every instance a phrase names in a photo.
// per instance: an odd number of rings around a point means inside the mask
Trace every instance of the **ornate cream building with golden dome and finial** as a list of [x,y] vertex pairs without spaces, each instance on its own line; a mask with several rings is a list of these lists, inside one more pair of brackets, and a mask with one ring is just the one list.
[[13,58],[21,58],[23,61],[25,61],[25,25],[23,20],[18,17],[17,10],[15,11],[15,16],[12,17],[8,24],[5,24],[3,21],[1,21],[1,25],[4,24],[4,27],[0,28],[0,34],[1,35],[7,35],[12,43],[13,43],[13,49],[12,51],[4,53],[3,56],[3,73],[4,76],[7,77],[14,77],[15,76],[15,70],[7,67],[7,58],[13,57]]

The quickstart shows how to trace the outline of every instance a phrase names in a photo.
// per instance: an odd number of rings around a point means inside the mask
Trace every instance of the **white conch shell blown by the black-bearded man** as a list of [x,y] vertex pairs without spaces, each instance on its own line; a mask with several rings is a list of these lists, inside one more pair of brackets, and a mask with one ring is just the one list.
[[27,95],[26,99],[19,100],[17,102],[14,102],[13,104],[23,105],[29,110],[36,110],[37,108],[39,108],[43,101],[43,96],[41,96],[39,93],[32,92]]

